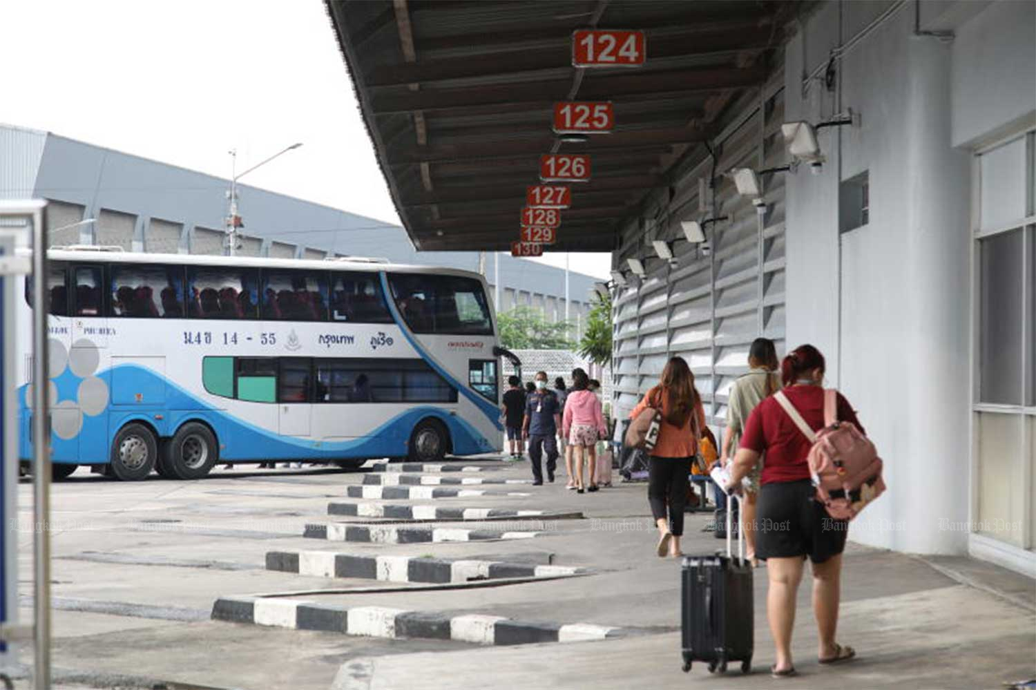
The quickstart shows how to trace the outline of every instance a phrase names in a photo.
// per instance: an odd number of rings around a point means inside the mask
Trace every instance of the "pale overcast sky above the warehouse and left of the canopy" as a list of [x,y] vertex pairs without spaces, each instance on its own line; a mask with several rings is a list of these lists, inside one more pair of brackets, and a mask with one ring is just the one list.
[[399,223],[319,0],[2,0],[0,26],[0,122],[222,176],[300,141],[244,181]]

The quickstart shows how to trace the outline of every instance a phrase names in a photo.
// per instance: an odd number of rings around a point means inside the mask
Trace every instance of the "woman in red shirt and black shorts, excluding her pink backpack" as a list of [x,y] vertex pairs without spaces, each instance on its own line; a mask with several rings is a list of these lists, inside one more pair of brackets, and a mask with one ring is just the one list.
[[[784,396],[813,429],[824,427],[824,355],[812,345],[802,345],[781,364]],[[838,420],[851,422],[864,433],[848,401],[838,396]],[[767,562],[770,588],[767,617],[777,648],[776,678],[795,674],[792,664],[792,629],[795,600],[806,556],[812,562],[813,612],[819,633],[822,664],[847,661],[851,646],[835,641],[838,627],[841,553],[848,523],[828,516],[814,499],[815,488],[806,457],[811,443],[773,396],[760,402],[748,418],[741,447],[733,458],[727,491],[741,484],[759,456],[762,461],[756,509],[755,556]]]

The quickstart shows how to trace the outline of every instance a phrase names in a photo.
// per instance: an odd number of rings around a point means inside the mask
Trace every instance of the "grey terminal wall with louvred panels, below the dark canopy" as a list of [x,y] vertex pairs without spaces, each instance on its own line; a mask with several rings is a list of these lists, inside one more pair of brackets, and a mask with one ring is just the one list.
[[[765,180],[761,250],[741,234],[745,202],[724,179],[717,214],[733,220],[713,228],[713,257],[678,242],[675,267],[651,258],[650,239],[680,236],[672,221],[701,217],[684,204],[707,161],[627,229],[614,266],[646,258],[648,276],[616,303],[620,406],[682,354],[718,427],[739,372],[727,367],[744,366],[750,336],[774,338],[780,354],[812,343],[886,463],[889,490],[851,539],[1036,576],[1034,7],[928,2],[918,18],[915,3],[827,2],[794,27],[783,88],[762,89],[754,130],[847,109],[860,124],[819,132],[819,175]],[[757,117],[758,100],[738,104],[735,121]],[[765,137],[749,164],[731,159],[738,134],[724,133],[717,170],[786,162],[779,138],[770,148]],[[742,316],[725,309],[739,290]]]

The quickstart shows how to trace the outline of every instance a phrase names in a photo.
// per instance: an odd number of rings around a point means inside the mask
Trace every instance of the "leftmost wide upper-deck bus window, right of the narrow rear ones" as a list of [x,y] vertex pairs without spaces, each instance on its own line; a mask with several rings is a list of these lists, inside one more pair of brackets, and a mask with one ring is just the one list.
[[183,268],[112,264],[110,316],[183,318]]

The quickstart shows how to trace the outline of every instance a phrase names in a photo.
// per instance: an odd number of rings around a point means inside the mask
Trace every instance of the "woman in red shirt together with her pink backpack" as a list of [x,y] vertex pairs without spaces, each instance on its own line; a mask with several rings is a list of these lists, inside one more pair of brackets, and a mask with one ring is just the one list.
[[777,663],[770,669],[774,678],[796,674],[792,629],[806,556],[812,562],[817,659],[831,664],[856,656],[835,635],[841,554],[848,519],[885,489],[881,460],[853,407],[836,391],[824,390],[824,355],[812,345],[789,352],[781,363],[784,389],[752,410],[729,475],[719,468],[713,472],[724,491],[740,491],[742,480],[764,458],[755,555],[767,563],[767,617],[777,648]]

